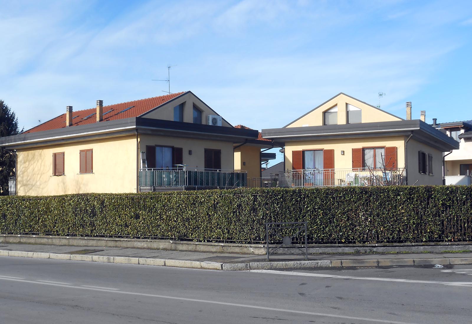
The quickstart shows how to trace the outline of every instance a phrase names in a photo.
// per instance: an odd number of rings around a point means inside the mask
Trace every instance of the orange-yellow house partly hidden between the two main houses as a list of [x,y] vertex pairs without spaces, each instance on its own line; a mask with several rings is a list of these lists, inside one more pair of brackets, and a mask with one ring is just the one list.
[[[235,128],[251,130],[249,127],[243,125],[236,125]],[[263,138],[261,133],[259,133],[258,138],[247,139],[242,143],[235,143],[234,170],[246,170],[248,186],[261,186],[261,164],[276,158],[275,153],[263,151],[269,150],[276,145],[277,144],[271,139]]]

